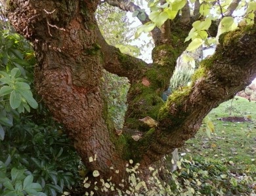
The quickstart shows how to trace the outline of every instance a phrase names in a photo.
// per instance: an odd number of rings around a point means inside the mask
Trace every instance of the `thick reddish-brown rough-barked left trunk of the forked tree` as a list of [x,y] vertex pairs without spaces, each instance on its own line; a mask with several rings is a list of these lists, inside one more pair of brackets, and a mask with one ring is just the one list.
[[[102,63],[96,43],[96,1],[9,1],[9,20],[32,41],[37,92],[57,121],[70,130],[89,170],[110,176],[118,158],[103,116]],[[89,157],[97,161],[89,163]]]

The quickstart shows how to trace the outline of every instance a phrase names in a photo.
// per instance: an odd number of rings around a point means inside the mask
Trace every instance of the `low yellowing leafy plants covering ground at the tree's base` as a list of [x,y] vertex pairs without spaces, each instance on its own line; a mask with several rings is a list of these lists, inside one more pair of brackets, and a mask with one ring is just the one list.
[[[177,163],[178,170],[169,172],[168,168],[154,169],[149,167],[151,172],[147,182],[140,176],[139,163],[133,164],[130,160],[126,165],[128,180],[121,180],[117,184],[107,180],[95,180],[90,182],[88,178],[83,181],[84,187],[90,189],[85,195],[250,195],[256,191],[255,180],[249,176],[236,177],[228,168],[219,161],[207,161],[200,159],[181,159]],[[110,167],[110,169],[113,169]],[[118,173],[118,170],[115,172]],[[161,174],[165,174],[162,177]],[[95,179],[100,173],[93,172]],[[160,177],[161,176],[161,177]],[[68,194],[67,194],[68,195]]]

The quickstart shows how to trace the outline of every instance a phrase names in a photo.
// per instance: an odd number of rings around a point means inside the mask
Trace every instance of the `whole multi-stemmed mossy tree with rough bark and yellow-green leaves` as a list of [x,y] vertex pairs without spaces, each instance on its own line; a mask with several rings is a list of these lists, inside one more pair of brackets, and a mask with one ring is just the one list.
[[[242,20],[249,25],[236,28],[232,13],[245,5],[242,1],[225,5],[195,1],[194,14],[189,1],[154,1],[148,16],[130,1],[106,0],[109,5],[133,12],[144,24],[140,31],[150,31],[155,43],[152,64],[122,54],[106,43],[95,20],[95,10],[101,3],[9,0],[5,7],[16,31],[33,44],[37,92],[54,119],[68,130],[91,171],[89,175],[98,170],[102,178],[112,176],[119,182],[125,176],[127,161],[133,159],[133,163],[140,163],[146,178],[150,165],[159,166],[165,154],[196,134],[212,108],[233,98],[256,77],[255,2],[249,3]],[[210,17],[211,7],[221,16],[221,22]],[[187,47],[194,50],[216,35],[216,52],[201,62],[191,85],[173,92],[163,102],[161,94],[169,86],[177,58]],[[121,134],[111,121],[102,94],[103,69],[127,77],[131,84]]]

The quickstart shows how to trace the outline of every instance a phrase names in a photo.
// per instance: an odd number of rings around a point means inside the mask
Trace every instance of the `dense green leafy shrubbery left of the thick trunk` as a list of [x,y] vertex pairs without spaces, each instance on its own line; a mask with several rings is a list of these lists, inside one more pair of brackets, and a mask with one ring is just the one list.
[[0,195],[54,196],[80,180],[64,129],[33,98],[34,64],[30,43],[0,29]]

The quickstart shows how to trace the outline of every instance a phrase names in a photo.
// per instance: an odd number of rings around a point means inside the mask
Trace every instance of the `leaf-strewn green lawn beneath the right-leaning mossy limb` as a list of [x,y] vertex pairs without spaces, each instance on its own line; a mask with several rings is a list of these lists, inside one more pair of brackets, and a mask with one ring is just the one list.
[[[232,123],[221,117],[247,117],[251,122]],[[206,125],[196,136],[188,140],[179,151],[185,158],[205,157],[221,161],[234,174],[247,174],[256,179],[256,102],[245,98],[224,102],[209,113],[215,125],[211,138],[205,132]]]

